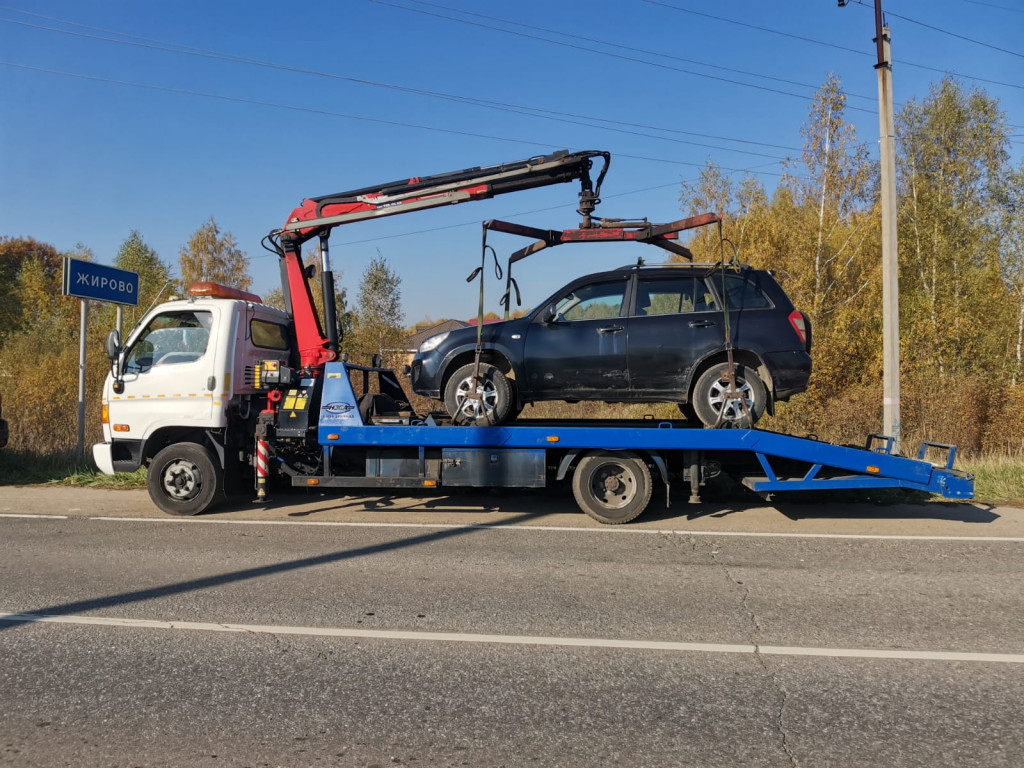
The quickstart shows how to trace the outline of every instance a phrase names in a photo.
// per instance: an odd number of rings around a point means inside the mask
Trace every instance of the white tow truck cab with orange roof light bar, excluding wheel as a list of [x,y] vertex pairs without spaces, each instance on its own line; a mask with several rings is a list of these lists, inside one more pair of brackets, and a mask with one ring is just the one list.
[[189,294],[150,311],[123,345],[116,332],[108,340],[103,442],[92,449],[104,473],[132,472],[182,441],[211,446],[223,467],[229,421],[261,407],[257,360],[290,359],[285,312],[215,284],[197,284]]

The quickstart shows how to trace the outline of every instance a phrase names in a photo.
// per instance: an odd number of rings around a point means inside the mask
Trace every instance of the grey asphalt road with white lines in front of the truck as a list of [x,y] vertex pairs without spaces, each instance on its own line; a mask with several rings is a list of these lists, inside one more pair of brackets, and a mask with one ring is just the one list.
[[974,505],[0,487],[0,765],[1020,766],[1022,554]]

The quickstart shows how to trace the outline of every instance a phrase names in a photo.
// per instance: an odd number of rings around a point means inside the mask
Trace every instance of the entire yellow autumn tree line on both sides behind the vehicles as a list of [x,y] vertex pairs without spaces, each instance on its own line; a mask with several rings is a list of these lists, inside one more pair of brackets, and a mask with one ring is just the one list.
[[[845,119],[829,76],[801,128],[803,152],[769,190],[709,161],[683,182],[683,213],[723,214],[688,244],[698,261],[738,259],[774,271],[813,327],[809,390],[762,426],[862,442],[882,423],[882,275],[879,167]],[[901,431],[904,443],[955,443],[969,455],[1024,454],[1024,163],[1010,160],[1010,127],[996,99],[947,78],[897,116]],[[720,237],[721,234],[721,237]],[[0,238],[0,393],[11,446],[74,447],[78,301],[60,296],[60,254],[32,238]],[[308,264],[318,262],[306,254]],[[114,265],[140,275],[130,329],[157,301],[196,281],[248,289],[249,259],[213,218],[180,249],[179,278],[132,231]],[[340,275],[339,275],[340,276]],[[340,283],[340,280],[339,280]],[[322,306],[318,281],[313,294]],[[265,298],[281,306],[280,291]],[[378,253],[354,306],[336,293],[349,359],[380,353],[400,365],[409,334],[400,279]],[[88,331],[87,442],[100,439],[111,305],[93,304]],[[649,411],[649,409],[648,409]]]

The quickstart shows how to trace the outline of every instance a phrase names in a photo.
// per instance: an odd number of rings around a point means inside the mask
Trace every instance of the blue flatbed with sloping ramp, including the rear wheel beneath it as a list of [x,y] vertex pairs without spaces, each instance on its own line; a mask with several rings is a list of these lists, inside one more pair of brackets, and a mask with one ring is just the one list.
[[[479,427],[409,412],[370,418],[357,406],[348,375],[353,369],[328,365],[316,427],[327,470],[291,473],[294,485],[543,487],[571,474],[581,508],[608,523],[643,511],[651,470],[667,487],[670,478],[682,478],[691,502],[699,500],[711,468],[723,465],[738,468],[731,473],[764,495],[908,488],[947,499],[974,496],[973,476],[953,469],[954,446],[924,443],[916,458],[907,458],[882,435],[859,447],[674,420],[519,420]],[[942,462],[928,460],[929,454]]]

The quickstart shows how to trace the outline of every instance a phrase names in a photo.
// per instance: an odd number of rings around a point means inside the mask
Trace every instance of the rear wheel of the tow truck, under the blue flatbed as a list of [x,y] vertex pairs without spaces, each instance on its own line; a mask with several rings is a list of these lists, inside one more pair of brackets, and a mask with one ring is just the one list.
[[594,451],[572,474],[572,495],[580,509],[598,522],[621,525],[647,508],[650,470],[629,451]]

